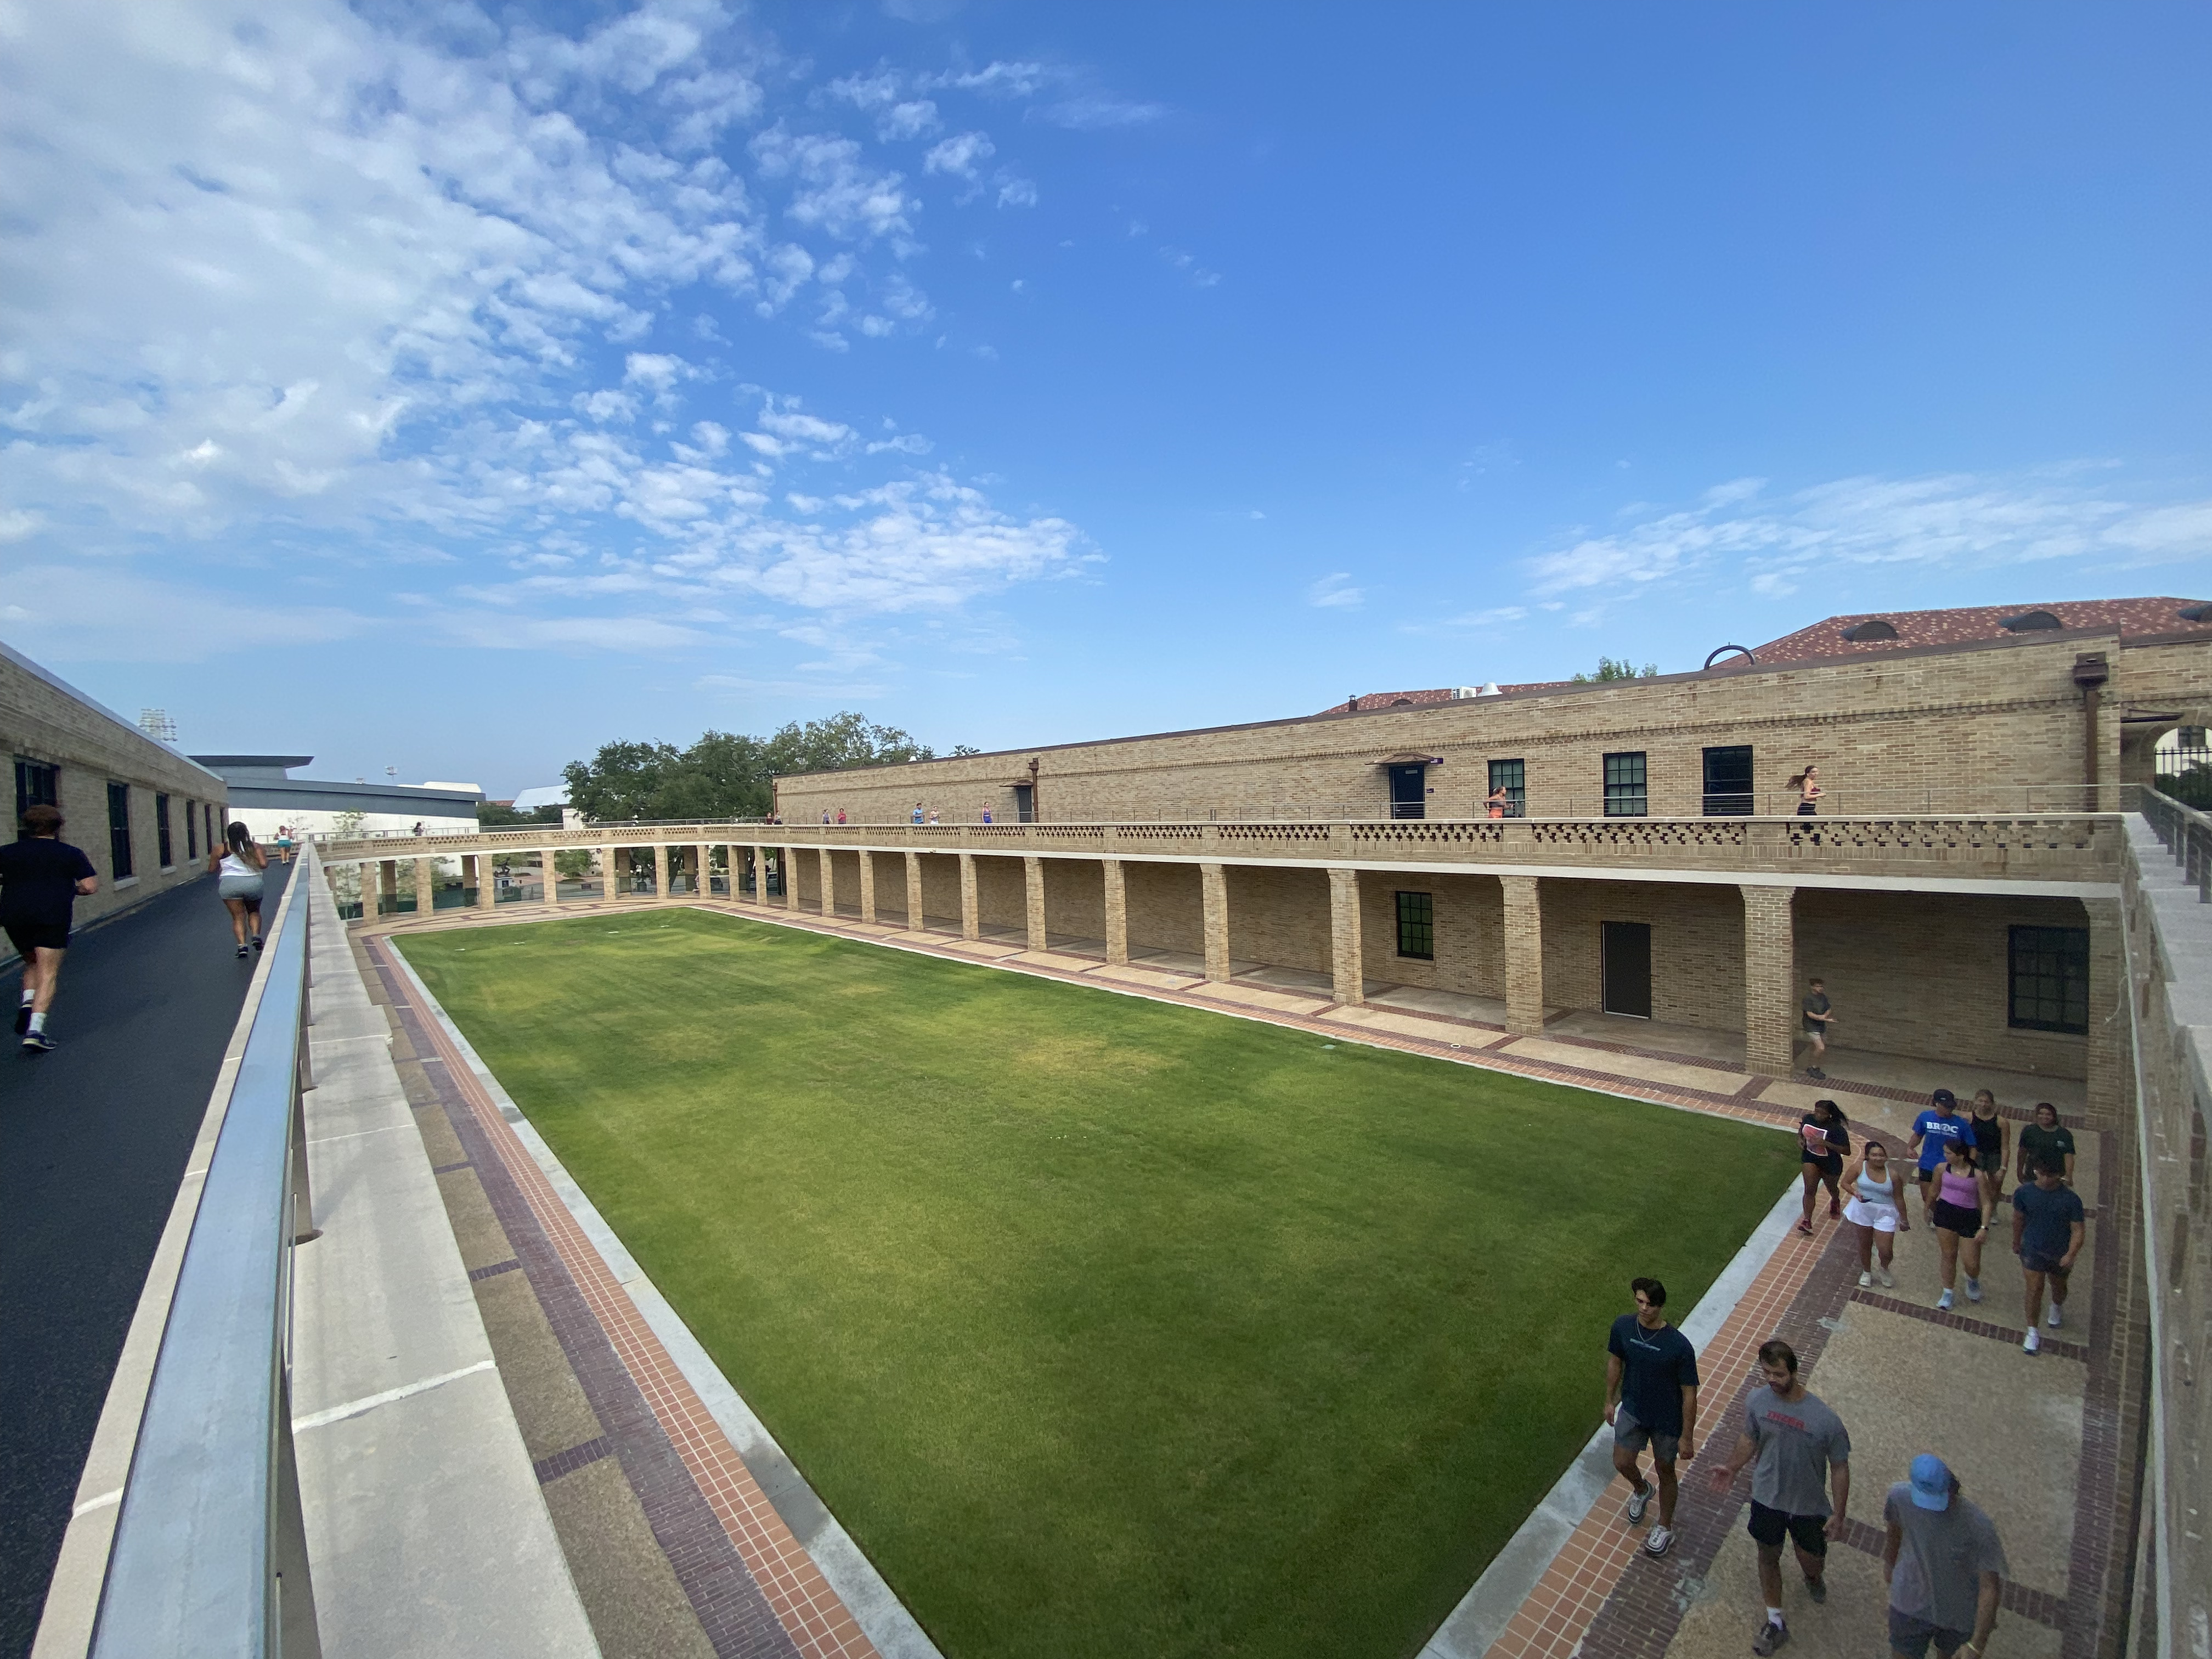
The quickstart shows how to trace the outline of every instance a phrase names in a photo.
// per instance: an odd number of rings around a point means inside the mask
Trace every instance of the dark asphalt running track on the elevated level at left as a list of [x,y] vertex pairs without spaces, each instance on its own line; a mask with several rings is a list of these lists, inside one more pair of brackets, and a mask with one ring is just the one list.
[[[270,865],[276,918],[288,867]],[[49,1024],[0,1046],[0,1659],[31,1650],[77,1473],[254,962],[201,876],[75,936]],[[22,995],[0,969],[9,1015]]]

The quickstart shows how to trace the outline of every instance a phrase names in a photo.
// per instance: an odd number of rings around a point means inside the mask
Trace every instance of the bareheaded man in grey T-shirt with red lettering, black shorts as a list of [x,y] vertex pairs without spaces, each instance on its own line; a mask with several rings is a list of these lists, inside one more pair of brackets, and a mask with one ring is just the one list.
[[[1770,1655],[1790,1639],[1783,1619],[1783,1537],[1796,1546],[1805,1573],[1805,1595],[1827,1601],[1827,1524],[1843,1524],[1851,1506],[1851,1436],[1843,1418],[1820,1396],[1805,1389],[1790,1343],[1759,1349],[1765,1387],[1743,1402],[1743,1433],[1712,1489],[1725,1493],[1743,1464],[1752,1469],[1752,1542],[1759,1546],[1759,1590],[1767,1597],[1767,1619],[1752,1637],[1752,1652]],[[1836,1493],[1834,1509],[1827,1491]]]

